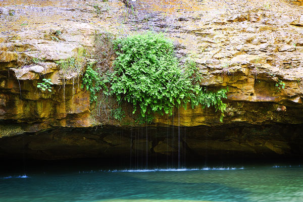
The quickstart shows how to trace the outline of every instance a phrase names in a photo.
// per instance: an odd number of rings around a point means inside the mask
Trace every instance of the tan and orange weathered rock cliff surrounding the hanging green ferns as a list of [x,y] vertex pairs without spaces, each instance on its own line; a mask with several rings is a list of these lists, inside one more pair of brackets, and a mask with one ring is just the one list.
[[[229,88],[223,123],[214,109],[188,107],[176,109],[173,117],[156,117],[149,130],[187,128],[192,136],[181,140],[184,150],[192,154],[205,154],[205,148],[218,151],[215,156],[223,151],[303,154],[299,149],[303,144],[302,1],[144,0],[130,4],[1,2],[1,156],[18,155],[24,145],[32,158],[114,156],[124,144],[117,143],[117,134],[110,132],[114,129],[99,126],[98,132],[91,132],[100,123],[119,126],[125,131],[125,142],[133,142],[129,127],[140,128],[135,118],[127,113],[118,122],[109,118],[109,109],[104,107],[105,115],[96,121],[89,92],[81,88],[81,76],[89,61],[85,54],[96,51],[96,34],[110,32],[119,37],[146,30],[170,37],[181,62],[185,57],[197,62],[203,73],[201,84],[210,90]],[[60,61],[79,55],[84,57],[83,66],[66,74]],[[36,87],[42,78],[52,80],[52,92]],[[127,105],[124,108],[128,110]],[[155,140],[151,133],[146,147],[151,154],[174,153],[176,144],[169,143],[174,140],[165,135]],[[287,133],[292,135],[287,137]],[[26,140],[21,141],[24,135]],[[126,144],[125,150],[135,149],[134,143]]]

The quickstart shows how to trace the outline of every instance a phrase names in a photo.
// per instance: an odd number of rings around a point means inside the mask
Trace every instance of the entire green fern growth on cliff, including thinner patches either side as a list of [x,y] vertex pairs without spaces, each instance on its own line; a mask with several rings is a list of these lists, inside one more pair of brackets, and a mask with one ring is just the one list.
[[[154,113],[172,115],[173,108],[191,103],[192,108],[214,106],[224,112],[226,89],[207,92],[200,86],[201,75],[196,63],[187,61],[184,68],[174,55],[173,43],[163,34],[145,33],[114,40],[117,58],[110,83],[111,95],[117,97],[119,104],[123,100],[133,105],[133,113],[139,110],[140,122],[150,122]],[[98,84],[99,77],[87,68],[83,83],[90,86],[106,87]],[[91,82],[87,80],[93,79]],[[101,83],[105,83],[102,81]],[[90,87],[87,87],[90,89]],[[91,100],[96,100],[94,87]]]

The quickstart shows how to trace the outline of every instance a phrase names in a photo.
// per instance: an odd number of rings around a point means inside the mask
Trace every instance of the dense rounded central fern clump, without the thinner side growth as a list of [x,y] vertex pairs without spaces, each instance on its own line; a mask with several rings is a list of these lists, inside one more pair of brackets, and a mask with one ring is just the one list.
[[112,93],[146,112],[172,113],[190,84],[183,78],[174,46],[162,35],[129,36],[114,42],[117,52]]

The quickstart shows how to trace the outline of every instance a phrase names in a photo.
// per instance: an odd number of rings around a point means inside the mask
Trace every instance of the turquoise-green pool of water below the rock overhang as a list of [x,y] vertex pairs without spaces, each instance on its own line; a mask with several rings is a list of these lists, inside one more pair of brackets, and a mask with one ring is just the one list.
[[299,165],[0,174],[0,201],[303,201]]

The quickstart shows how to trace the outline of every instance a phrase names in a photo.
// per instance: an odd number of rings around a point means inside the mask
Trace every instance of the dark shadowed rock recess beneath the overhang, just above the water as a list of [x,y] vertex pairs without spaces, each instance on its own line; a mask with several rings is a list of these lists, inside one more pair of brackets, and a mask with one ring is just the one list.
[[219,127],[54,128],[3,138],[0,157],[29,159],[113,158],[142,163],[180,158],[301,158],[302,124]]

